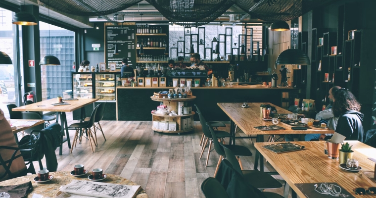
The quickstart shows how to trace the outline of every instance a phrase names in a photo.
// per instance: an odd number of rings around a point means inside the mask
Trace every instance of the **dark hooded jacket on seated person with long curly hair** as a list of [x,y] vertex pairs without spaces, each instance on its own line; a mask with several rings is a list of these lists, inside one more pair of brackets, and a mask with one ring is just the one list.
[[346,137],[345,140],[364,141],[364,129],[362,125],[363,114],[355,110],[346,111],[339,116],[335,132]]

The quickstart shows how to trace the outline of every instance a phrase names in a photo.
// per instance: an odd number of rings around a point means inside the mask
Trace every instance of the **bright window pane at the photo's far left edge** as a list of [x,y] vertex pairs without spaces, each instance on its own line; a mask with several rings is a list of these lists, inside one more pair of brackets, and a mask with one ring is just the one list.
[[[16,26],[12,24],[12,16],[14,12],[0,8],[0,51],[7,53],[12,59],[13,64],[0,65],[0,85],[2,87],[0,95],[0,108],[4,111],[5,116],[9,117],[9,112],[6,108],[7,104],[16,103],[15,90],[15,68],[17,68],[17,54],[16,54],[16,38],[14,35]],[[20,54],[22,57],[22,54]],[[5,86],[5,88],[4,88]]]

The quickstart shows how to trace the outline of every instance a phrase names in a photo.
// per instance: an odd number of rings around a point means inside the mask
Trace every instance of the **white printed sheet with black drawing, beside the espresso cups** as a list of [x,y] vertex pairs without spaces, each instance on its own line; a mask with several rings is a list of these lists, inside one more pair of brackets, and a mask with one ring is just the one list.
[[60,191],[65,195],[73,194],[70,198],[134,198],[140,189],[141,186],[73,180]]

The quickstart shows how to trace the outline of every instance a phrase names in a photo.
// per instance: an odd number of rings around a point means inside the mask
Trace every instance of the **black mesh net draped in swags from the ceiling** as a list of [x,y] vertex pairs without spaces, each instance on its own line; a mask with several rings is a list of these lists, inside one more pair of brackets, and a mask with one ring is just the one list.
[[[141,0],[40,0],[74,15],[102,16],[124,10]],[[288,21],[328,0],[146,0],[169,21],[194,27],[214,21],[236,4],[252,18]]]

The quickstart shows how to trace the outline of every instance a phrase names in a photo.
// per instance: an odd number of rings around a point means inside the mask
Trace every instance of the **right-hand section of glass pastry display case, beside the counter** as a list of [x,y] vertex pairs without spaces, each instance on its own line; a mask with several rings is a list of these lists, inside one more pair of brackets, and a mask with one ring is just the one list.
[[116,86],[121,85],[120,72],[95,73],[95,98],[98,101],[116,100]]

